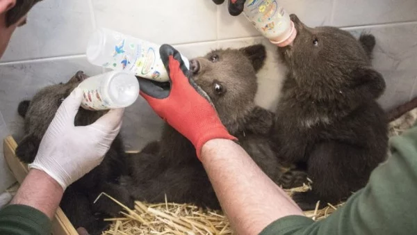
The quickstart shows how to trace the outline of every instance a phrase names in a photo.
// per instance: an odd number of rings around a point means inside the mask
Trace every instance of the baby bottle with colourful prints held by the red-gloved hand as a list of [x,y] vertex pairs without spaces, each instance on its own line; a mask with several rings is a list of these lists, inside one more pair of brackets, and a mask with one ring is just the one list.
[[[87,47],[87,58],[90,63],[113,70],[129,70],[145,79],[168,81],[159,45],[110,29],[98,29],[93,33]],[[182,57],[186,67],[188,59]]]

